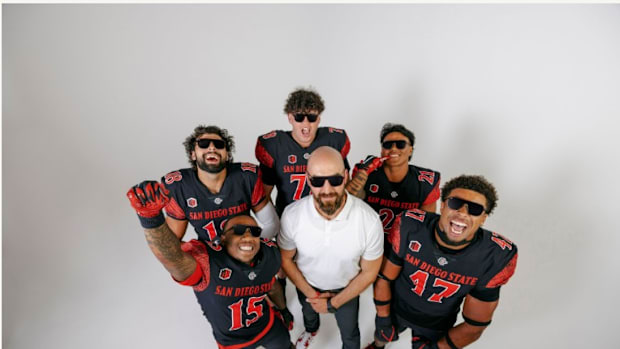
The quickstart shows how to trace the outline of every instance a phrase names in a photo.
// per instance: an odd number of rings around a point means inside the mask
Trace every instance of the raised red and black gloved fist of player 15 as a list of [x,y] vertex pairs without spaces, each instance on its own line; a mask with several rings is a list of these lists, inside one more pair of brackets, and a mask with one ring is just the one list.
[[168,190],[156,181],[144,181],[127,191],[127,199],[136,210],[143,228],[157,228],[165,221],[162,209],[168,201]]

